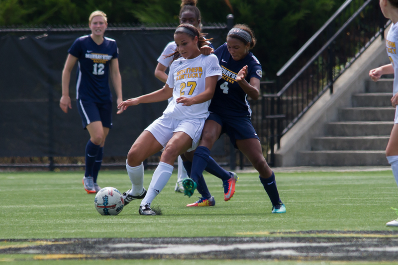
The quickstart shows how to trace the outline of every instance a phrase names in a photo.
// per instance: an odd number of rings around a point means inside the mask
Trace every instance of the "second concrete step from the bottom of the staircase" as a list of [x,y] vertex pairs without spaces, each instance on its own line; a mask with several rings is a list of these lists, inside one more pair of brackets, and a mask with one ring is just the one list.
[[383,150],[387,147],[390,136],[359,137],[315,137],[311,141],[312,151],[324,150]]

